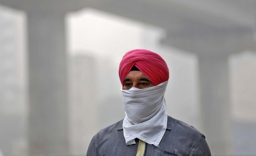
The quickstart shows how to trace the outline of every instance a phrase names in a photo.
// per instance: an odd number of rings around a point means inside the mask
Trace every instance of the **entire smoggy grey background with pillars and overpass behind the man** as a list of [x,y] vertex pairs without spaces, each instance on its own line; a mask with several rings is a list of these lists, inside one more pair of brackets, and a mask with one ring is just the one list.
[[84,156],[124,118],[129,50],[170,70],[168,114],[213,156],[256,153],[256,1],[0,0],[0,156]]

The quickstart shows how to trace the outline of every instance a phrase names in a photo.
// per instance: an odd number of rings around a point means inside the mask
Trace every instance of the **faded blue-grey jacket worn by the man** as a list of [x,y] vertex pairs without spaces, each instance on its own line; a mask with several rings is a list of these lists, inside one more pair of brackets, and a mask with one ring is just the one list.
[[[123,120],[100,130],[92,138],[86,156],[136,156],[139,140],[126,145],[122,124]],[[211,153],[202,133],[168,116],[159,147],[146,144],[144,156],[211,156]]]

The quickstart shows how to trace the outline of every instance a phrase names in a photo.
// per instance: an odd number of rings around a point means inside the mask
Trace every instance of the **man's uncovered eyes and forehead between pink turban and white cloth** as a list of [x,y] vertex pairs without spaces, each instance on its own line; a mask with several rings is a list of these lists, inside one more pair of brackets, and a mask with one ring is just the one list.
[[129,90],[132,87],[144,89],[152,86],[154,86],[154,84],[143,72],[134,70],[130,71],[124,79],[123,90]]

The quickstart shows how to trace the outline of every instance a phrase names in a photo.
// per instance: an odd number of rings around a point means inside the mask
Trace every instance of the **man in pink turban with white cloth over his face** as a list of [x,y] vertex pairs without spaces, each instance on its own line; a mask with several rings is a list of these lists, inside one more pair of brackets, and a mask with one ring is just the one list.
[[119,66],[125,118],[100,130],[87,156],[210,156],[202,133],[167,115],[169,70],[149,50],[127,52]]

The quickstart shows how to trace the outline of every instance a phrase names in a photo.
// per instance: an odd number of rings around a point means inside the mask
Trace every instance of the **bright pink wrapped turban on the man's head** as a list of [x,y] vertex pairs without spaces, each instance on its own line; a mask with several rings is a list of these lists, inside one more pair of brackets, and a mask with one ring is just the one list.
[[160,55],[145,49],[135,49],[127,52],[120,62],[119,78],[122,86],[133,66],[143,72],[154,86],[169,79],[168,66]]

